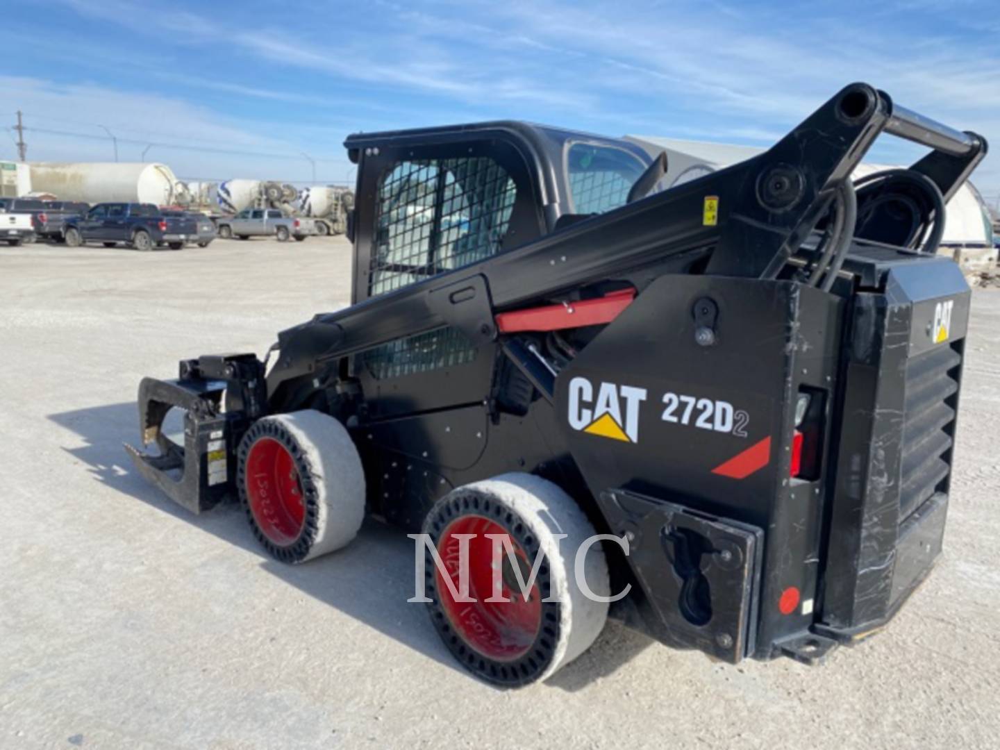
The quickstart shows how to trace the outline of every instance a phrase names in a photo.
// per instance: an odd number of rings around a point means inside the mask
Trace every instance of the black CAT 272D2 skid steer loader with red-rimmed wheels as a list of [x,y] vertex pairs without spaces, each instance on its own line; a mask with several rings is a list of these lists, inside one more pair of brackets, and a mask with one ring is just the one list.
[[[882,133],[930,150],[852,183]],[[201,356],[140,385],[159,450],[130,451],[175,501],[238,498],[290,563],[365,513],[422,529],[434,626],[506,686],[571,661],[609,614],[726,662],[813,663],[927,576],[970,300],[935,251],[982,137],[859,83],[667,190],[663,156],[522,122],[345,145],[352,306],[263,361]]]

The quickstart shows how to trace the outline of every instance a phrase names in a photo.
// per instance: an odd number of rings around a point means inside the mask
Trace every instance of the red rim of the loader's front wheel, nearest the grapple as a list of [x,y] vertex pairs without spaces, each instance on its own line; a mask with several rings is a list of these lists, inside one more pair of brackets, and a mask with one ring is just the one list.
[[306,507],[295,460],[281,443],[260,438],[247,453],[246,490],[250,513],[269,540],[287,546],[305,525]]

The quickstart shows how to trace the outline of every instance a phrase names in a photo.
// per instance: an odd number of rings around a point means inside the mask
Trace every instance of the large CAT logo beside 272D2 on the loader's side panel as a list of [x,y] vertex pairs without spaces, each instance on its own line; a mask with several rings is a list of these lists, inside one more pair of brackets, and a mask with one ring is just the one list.
[[645,388],[601,383],[594,399],[589,380],[569,381],[569,426],[590,435],[639,442],[639,404],[646,400]]

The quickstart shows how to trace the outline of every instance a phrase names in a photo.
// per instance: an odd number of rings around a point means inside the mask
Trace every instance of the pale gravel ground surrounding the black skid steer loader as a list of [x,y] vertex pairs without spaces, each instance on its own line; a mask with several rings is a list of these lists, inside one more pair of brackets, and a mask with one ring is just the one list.
[[143,375],[262,354],[346,304],[349,269],[343,240],[0,249],[0,748],[996,746],[1000,293],[973,298],[945,554],[886,632],[820,668],[733,667],[611,625],[503,692],[406,603],[401,532],[279,565],[122,450]]

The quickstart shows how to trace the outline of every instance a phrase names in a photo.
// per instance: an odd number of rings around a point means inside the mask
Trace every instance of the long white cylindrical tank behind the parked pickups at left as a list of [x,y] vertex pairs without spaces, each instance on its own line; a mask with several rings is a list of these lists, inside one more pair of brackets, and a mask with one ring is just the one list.
[[64,201],[167,206],[177,198],[178,180],[165,164],[37,162],[31,184]]

